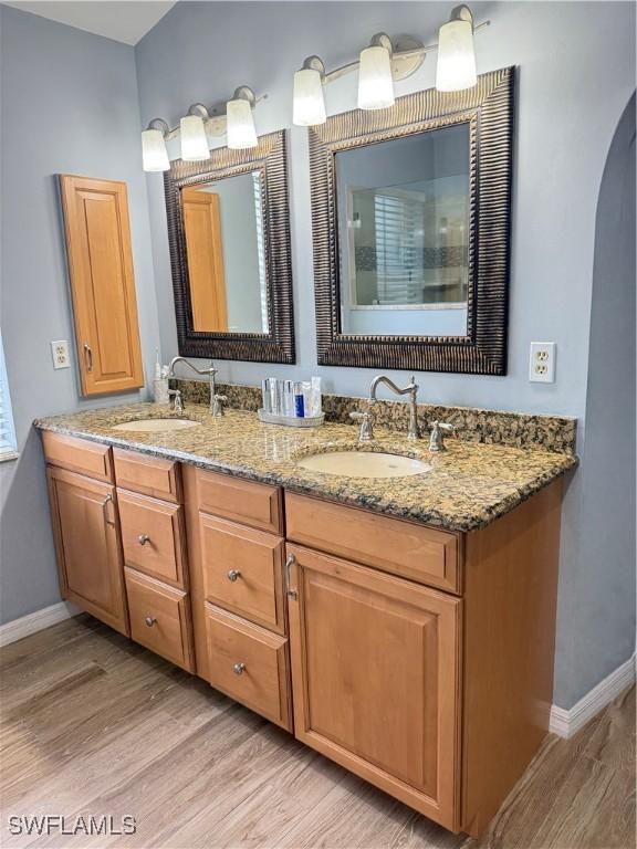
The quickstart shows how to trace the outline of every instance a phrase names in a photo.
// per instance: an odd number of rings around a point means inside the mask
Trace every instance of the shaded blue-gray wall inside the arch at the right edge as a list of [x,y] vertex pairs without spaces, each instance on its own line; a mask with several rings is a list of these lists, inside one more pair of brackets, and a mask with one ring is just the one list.
[[584,522],[562,573],[560,680],[571,704],[635,651],[635,96],[597,203],[579,472]]

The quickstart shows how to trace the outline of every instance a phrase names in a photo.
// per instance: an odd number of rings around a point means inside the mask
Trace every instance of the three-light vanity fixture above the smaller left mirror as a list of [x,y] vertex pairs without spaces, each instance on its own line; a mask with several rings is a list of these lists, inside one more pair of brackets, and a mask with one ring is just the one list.
[[[265,98],[268,95],[263,95]],[[166,143],[179,136],[181,159],[185,163],[199,163],[210,159],[208,135],[227,134],[228,147],[244,150],[257,147],[257,127],[252,112],[257,97],[251,88],[241,85],[226,104],[226,113],[210,112],[201,103],[195,103],[179,122],[179,127],[170,129],[163,118],[153,118],[142,133],[142,157],[145,171],[168,171],[170,160]]]

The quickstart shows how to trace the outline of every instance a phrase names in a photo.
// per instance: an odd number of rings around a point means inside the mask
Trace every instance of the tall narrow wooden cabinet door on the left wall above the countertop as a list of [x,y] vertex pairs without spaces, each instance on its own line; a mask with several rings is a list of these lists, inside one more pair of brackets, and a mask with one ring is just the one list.
[[126,184],[60,175],[83,395],[144,386]]

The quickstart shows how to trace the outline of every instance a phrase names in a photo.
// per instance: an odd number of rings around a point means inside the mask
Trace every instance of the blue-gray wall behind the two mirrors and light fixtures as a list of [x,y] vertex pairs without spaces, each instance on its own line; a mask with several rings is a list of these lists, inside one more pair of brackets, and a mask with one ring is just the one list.
[[[380,30],[410,32],[426,43],[436,39],[451,3],[284,2],[178,3],[137,45],[143,123],[159,115],[175,125],[196,101],[227,99],[238,84],[267,92],[255,112],[259,133],[291,124],[292,74],[304,56],[320,54],[328,67],[351,61]],[[582,471],[571,478],[563,507],[561,593],[555,701],[570,708],[613,665],[626,659],[623,617],[603,627],[575,612],[587,609],[604,587],[582,569],[582,535],[592,527],[583,481],[588,338],[595,244],[595,210],[602,174],[619,116],[635,85],[633,3],[472,3],[478,22],[491,27],[477,35],[480,73],[520,67],[513,180],[513,241],[509,374],[499,377],[420,375],[421,396],[443,403],[476,405],[576,416]],[[169,61],[167,61],[169,56]],[[275,61],[273,60],[275,57]],[[435,54],[397,94],[435,82]],[[356,103],[356,75],[332,84],[327,111]],[[312,284],[312,229],[307,135],[290,133],[290,177],[297,365],[268,367],[276,375],[321,374],[328,390],[365,395],[372,371],[318,368],[315,363]],[[153,254],[164,358],[177,353],[166,216],[160,177],[148,176]],[[557,343],[557,381],[528,380],[529,344]],[[263,367],[221,361],[223,380],[254,384]],[[395,374],[397,380],[406,375]],[[606,562],[622,563],[625,541],[608,539]],[[599,566],[599,568],[603,568]],[[618,586],[623,578],[618,575]],[[628,593],[629,587],[620,591]],[[604,610],[612,609],[609,593]],[[584,646],[595,643],[589,662]],[[576,644],[577,643],[577,644]]]

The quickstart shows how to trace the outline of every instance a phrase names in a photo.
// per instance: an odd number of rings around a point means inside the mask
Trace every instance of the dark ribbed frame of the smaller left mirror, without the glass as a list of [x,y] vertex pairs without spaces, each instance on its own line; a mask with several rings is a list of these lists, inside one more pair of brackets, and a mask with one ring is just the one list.
[[[180,189],[257,170],[261,174],[263,199],[269,332],[262,334],[195,331]],[[205,163],[185,163],[177,159],[171,163],[170,170],[164,175],[164,189],[179,354],[187,357],[213,357],[215,359],[294,363],[294,311],[284,130],[260,136],[259,145],[248,150],[216,148],[210,151],[210,159]]]

